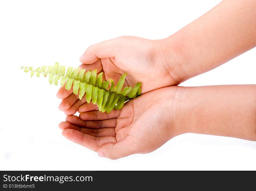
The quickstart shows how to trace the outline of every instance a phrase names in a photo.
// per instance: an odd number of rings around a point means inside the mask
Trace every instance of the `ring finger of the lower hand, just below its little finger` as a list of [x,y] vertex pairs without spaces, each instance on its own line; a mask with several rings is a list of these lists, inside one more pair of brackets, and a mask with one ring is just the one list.
[[70,115],[66,117],[66,121],[84,128],[115,128],[117,118],[106,119],[106,120],[94,120],[94,121],[84,121],[75,115]]

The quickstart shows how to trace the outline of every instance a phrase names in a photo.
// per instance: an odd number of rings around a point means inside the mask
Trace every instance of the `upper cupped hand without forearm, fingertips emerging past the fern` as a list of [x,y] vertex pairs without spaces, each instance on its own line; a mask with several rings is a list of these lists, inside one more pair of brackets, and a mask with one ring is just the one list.
[[[120,76],[128,73],[125,86],[134,86],[141,82],[141,91],[146,93],[158,88],[176,85],[181,79],[174,70],[178,64],[172,51],[167,50],[165,40],[149,40],[124,36],[100,42],[90,46],[80,57],[80,68],[103,71],[106,79],[115,84]],[[166,59],[168,55],[168,59]],[[172,71],[170,68],[173,68]],[[182,71],[182,70],[179,70]],[[63,99],[59,109],[66,115],[75,114],[80,105],[86,102],[85,96],[79,100],[71,90],[60,88],[57,97]]]

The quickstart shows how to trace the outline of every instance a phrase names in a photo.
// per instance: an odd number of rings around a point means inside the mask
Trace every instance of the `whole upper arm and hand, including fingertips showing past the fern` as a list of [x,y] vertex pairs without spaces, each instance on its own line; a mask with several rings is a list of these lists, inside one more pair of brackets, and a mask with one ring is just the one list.
[[[103,71],[115,83],[128,72],[125,86],[141,82],[142,93],[177,85],[255,47],[255,10],[254,0],[222,1],[166,39],[123,36],[91,45],[79,58],[80,68]],[[57,93],[66,115],[86,103],[72,92]]]

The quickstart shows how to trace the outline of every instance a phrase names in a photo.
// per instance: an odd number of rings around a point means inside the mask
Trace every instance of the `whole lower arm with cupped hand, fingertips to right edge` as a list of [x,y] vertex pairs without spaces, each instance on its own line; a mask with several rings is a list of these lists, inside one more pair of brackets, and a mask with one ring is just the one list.
[[67,116],[59,124],[62,134],[109,159],[152,152],[184,133],[256,141],[256,85],[172,86],[109,114],[87,110],[80,110],[80,118]]

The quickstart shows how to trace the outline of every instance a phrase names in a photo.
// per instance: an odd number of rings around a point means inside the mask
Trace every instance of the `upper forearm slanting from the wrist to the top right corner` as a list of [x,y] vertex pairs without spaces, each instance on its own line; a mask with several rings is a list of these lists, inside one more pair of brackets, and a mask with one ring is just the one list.
[[165,65],[177,81],[216,68],[256,46],[256,1],[224,0],[162,44]]

